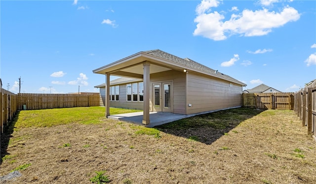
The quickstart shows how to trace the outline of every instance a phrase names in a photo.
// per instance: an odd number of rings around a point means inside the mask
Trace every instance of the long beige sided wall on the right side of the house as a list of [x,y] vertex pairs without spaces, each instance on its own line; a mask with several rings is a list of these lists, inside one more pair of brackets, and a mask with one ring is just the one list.
[[187,114],[241,106],[241,93],[241,85],[189,72],[187,104],[192,107],[187,107]]

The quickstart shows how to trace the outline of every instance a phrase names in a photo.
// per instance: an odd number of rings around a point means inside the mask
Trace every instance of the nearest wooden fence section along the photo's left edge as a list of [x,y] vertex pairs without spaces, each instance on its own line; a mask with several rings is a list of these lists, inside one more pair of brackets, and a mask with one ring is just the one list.
[[16,94],[0,88],[0,133],[17,112],[16,97]]

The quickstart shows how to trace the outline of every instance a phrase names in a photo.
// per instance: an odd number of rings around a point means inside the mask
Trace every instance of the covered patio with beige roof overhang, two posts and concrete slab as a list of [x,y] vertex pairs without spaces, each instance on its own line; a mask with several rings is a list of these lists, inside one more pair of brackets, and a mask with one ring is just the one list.
[[[156,54],[157,52],[158,56],[155,56],[154,54]],[[142,79],[144,83],[143,112],[138,113],[139,115],[134,114],[136,116],[131,115],[129,117],[126,114],[121,116],[111,116],[110,97],[109,95],[106,95],[105,106],[107,118],[126,120],[128,122],[134,123],[142,123],[148,127],[153,127],[158,125],[159,122],[169,123],[187,117],[186,115],[173,114],[172,107],[160,109],[161,112],[159,112],[159,110],[150,109],[150,88],[152,87],[150,76],[156,73],[171,70],[186,73],[186,66],[184,65],[184,63],[172,62],[165,58],[161,58],[161,56],[159,55],[161,53],[163,52],[159,50],[139,52],[127,58],[121,59],[119,61],[113,62],[111,64],[93,70],[93,73],[104,74],[106,76],[106,94],[110,94],[111,75],[129,77],[134,79]]]

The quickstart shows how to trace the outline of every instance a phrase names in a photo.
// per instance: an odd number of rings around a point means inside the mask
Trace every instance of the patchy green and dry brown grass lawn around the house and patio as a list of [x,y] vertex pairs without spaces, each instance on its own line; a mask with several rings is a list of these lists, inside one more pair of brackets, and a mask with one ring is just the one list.
[[293,111],[237,108],[155,128],[108,120],[104,111],[21,111],[1,135],[0,176],[20,171],[14,184],[316,181],[316,142]]

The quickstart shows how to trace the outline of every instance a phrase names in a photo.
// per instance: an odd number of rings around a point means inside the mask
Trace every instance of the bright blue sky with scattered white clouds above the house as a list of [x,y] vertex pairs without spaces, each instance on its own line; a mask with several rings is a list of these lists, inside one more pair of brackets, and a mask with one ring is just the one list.
[[316,1],[0,1],[0,78],[14,93],[19,77],[21,92],[99,92],[92,70],[153,49],[244,89],[296,92],[316,79]]

